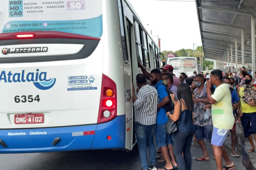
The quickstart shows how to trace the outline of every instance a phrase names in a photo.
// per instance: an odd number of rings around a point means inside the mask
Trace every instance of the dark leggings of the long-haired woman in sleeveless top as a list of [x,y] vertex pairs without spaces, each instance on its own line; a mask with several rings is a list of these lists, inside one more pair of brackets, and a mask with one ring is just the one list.
[[[174,136],[174,154],[179,166],[179,170],[191,170],[192,158],[191,158],[191,142],[195,131],[182,132],[177,131]],[[184,158],[182,156],[182,152]]]

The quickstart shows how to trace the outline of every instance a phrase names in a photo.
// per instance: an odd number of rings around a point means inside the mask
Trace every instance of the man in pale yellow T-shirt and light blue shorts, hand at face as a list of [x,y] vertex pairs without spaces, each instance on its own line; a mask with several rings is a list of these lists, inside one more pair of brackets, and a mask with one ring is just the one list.
[[[215,161],[218,170],[234,169],[236,166],[230,160],[224,141],[228,135],[229,129],[233,128],[235,118],[231,102],[231,94],[229,85],[222,82],[222,71],[213,70],[211,79],[206,83],[207,97],[212,105],[212,148],[215,156]],[[211,86],[215,85],[214,94],[211,93]],[[225,166],[222,166],[222,156],[225,160]]]

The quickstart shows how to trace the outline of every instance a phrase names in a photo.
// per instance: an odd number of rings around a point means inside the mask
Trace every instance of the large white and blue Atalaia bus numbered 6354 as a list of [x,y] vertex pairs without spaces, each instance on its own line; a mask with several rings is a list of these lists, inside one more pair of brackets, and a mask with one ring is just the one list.
[[138,62],[148,71],[160,66],[132,5],[0,4],[0,153],[132,150]]

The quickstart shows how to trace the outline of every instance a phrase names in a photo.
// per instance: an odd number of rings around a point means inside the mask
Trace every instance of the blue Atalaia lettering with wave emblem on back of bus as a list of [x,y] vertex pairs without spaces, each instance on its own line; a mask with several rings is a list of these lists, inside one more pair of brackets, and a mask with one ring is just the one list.
[[47,72],[25,72],[13,73],[11,71],[1,71],[0,83],[18,83],[18,82],[33,82],[33,84],[40,90],[48,90],[52,88],[56,82],[56,78],[47,79]]

